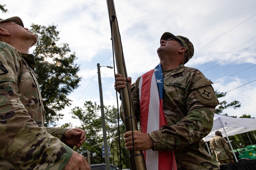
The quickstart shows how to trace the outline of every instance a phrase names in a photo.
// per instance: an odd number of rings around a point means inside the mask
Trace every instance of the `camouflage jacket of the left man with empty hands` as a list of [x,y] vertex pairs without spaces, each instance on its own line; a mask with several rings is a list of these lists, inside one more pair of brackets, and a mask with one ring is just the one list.
[[0,42],[0,68],[0,169],[63,169],[73,150],[44,127],[34,56]]

